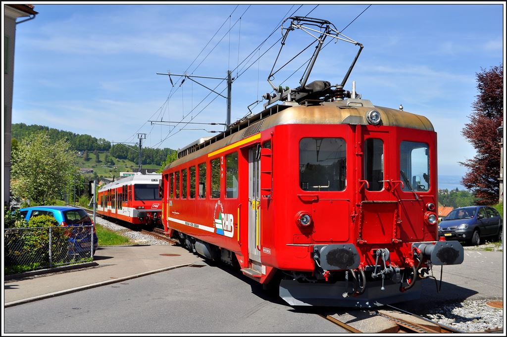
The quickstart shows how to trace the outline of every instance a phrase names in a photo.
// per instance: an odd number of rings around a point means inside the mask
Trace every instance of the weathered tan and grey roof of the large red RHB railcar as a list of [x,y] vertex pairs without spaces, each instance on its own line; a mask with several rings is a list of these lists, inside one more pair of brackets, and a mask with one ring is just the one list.
[[[434,131],[431,122],[424,116],[407,111],[375,106],[367,99],[345,99],[334,102],[303,101],[284,102],[272,105],[256,115],[250,115],[231,125],[226,131],[206,139],[195,141],[178,152],[178,159],[165,169],[211,153],[241,139],[255,135],[277,125],[287,124],[359,124],[369,125],[368,111],[380,113],[383,126],[397,126],[418,130]],[[204,138],[200,138],[201,140]]]

